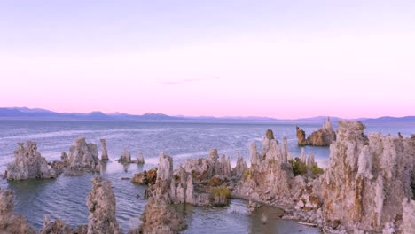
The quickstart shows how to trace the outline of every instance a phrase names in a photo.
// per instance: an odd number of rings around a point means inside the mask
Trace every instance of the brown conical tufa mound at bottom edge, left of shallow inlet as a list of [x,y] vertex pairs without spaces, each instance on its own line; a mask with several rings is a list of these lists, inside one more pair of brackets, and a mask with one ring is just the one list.
[[143,223],[129,233],[176,234],[186,228],[184,218],[165,199],[150,199],[142,215]]

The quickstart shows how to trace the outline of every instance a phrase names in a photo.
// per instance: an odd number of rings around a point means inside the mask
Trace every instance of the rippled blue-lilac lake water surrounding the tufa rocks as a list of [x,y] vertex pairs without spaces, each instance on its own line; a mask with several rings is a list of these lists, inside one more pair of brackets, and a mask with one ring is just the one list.
[[[307,134],[321,125],[300,125]],[[298,156],[301,147],[297,146],[294,124],[242,124],[242,123],[184,123],[184,122],[114,122],[114,121],[0,121],[0,171],[13,160],[13,151],[18,142],[33,140],[38,151],[46,160],[59,160],[61,152],[68,152],[74,138],[86,136],[87,142],[99,143],[105,138],[110,161],[106,163],[103,175],[114,187],[117,202],[117,219],[124,232],[137,227],[146,200],[145,186],[121,180],[132,177],[144,169],[154,168],[161,151],[172,156],[175,165],[188,158],[207,157],[210,148],[231,157],[235,165],[238,153],[249,161],[249,144],[256,141],[258,150],[266,129],[273,129],[281,142],[288,139],[289,151]],[[403,136],[415,133],[412,125],[368,126],[368,131]],[[100,145],[98,144],[100,150]],[[114,160],[128,149],[133,158],[138,152],[145,157],[145,165],[129,165],[126,172]],[[329,150],[324,147],[306,147],[313,152],[320,165],[328,160]],[[37,230],[43,225],[43,216],[60,218],[75,226],[88,222],[88,209],[85,198],[90,192],[90,180],[96,175],[85,173],[79,176],[61,175],[52,180],[29,180],[18,182],[0,181],[2,187],[15,191],[15,211],[23,214]],[[247,214],[247,202],[231,200],[229,207],[192,207],[181,209],[189,228],[184,233],[318,233],[317,229],[301,226],[296,222],[279,220],[275,208],[263,207],[254,214]],[[262,224],[262,213],[269,216]]]

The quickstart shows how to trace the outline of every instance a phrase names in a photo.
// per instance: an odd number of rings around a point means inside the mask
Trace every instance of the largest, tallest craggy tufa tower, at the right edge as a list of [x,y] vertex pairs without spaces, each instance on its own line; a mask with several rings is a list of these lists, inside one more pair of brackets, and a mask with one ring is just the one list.
[[398,227],[411,207],[403,201],[414,192],[415,139],[366,136],[364,128],[361,122],[339,121],[319,194],[323,218],[366,231]]

